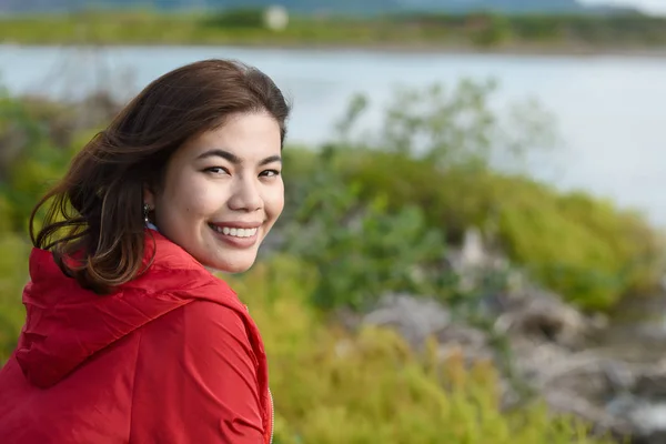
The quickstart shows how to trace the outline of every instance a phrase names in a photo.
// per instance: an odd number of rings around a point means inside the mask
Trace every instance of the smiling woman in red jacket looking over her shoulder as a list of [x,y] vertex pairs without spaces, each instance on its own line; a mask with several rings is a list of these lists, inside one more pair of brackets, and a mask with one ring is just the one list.
[[262,340],[210,270],[248,270],[282,212],[287,114],[262,72],[201,61],[149,84],[73,159],[30,221],[0,443],[272,440]]

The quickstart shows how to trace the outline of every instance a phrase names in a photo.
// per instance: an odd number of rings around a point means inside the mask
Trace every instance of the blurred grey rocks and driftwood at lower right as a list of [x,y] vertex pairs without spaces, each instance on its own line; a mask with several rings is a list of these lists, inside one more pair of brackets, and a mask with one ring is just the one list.
[[[470,251],[473,263],[478,251]],[[470,365],[492,360],[504,371],[508,362],[511,372],[500,381],[502,408],[524,404],[529,401],[525,394],[535,393],[552,412],[575,415],[597,434],[630,438],[633,444],[666,444],[666,359],[640,364],[592,349],[591,333],[607,319],[587,317],[556,294],[531,285],[494,294],[484,303],[474,314],[496,316],[492,332],[466,324],[457,314],[453,320],[434,300],[405,294],[383,297],[353,323],[395,329],[416,350],[433,336],[442,361],[463,356]],[[507,340],[508,354],[493,346],[497,336]]]

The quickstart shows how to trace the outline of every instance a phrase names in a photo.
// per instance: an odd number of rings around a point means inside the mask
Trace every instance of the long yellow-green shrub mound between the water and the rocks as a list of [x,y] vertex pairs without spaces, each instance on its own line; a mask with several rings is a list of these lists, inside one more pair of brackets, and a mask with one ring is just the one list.
[[355,155],[344,172],[363,185],[361,200],[389,195],[389,212],[416,205],[423,230],[438,230],[448,242],[458,243],[471,226],[482,229],[490,246],[582,307],[609,309],[659,282],[662,234],[601,199],[493,171],[438,172],[403,154]]

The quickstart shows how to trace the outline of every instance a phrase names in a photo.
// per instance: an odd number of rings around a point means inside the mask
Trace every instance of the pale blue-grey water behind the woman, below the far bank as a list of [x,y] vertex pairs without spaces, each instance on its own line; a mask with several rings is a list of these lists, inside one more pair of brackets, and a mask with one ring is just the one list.
[[[536,98],[556,117],[561,147],[533,173],[644,211],[666,224],[666,59],[317,51],[226,47],[114,47],[89,51],[0,46],[0,81],[12,93],[73,98],[110,85],[129,98],[158,75],[210,57],[234,58],[274,78],[294,104],[291,141],[321,143],[354,92],[375,103],[394,87],[495,78],[503,110]],[[375,109],[374,120],[379,119]],[[371,117],[372,117],[371,115]]]

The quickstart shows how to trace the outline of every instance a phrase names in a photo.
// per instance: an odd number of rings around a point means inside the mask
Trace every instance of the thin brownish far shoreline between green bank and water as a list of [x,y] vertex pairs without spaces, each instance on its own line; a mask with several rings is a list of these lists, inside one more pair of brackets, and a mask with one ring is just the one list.
[[280,42],[280,41],[220,41],[220,42],[37,42],[26,43],[12,40],[0,40],[0,47],[17,48],[212,48],[229,47],[248,50],[285,50],[285,51],[326,51],[326,52],[376,52],[395,54],[443,54],[443,56],[507,56],[507,57],[547,57],[547,58],[596,58],[596,57],[632,57],[666,58],[666,46],[660,48],[595,48],[584,46],[531,46],[506,44],[493,48],[473,46],[417,43],[344,43],[344,42]]

